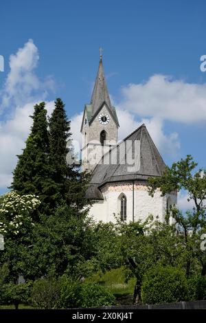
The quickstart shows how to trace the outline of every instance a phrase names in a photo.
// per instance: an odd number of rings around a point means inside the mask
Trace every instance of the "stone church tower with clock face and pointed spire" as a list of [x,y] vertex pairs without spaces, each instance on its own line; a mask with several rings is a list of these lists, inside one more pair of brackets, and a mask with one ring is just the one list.
[[93,170],[102,155],[116,146],[119,122],[106,87],[102,54],[90,104],[82,118],[82,170]]

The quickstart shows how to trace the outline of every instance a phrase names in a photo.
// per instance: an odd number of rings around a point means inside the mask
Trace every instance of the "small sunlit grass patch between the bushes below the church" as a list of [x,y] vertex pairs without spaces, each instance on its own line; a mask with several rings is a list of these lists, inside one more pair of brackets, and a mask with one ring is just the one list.
[[107,271],[106,274],[102,276],[100,276],[100,274],[95,274],[86,281],[98,282],[118,298],[133,294],[135,278],[131,278],[128,283],[124,282],[124,280],[124,267],[120,267],[117,269],[111,269],[111,271]]

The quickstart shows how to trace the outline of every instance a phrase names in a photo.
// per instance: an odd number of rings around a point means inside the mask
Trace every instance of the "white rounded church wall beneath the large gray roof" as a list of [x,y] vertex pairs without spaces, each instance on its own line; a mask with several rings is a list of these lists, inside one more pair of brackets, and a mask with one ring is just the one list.
[[[95,214],[97,221],[115,222],[115,216],[120,216],[121,194],[126,197],[126,221],[133,221],[133,183],[113,183],[102,189],[104,201],[94,203],[89,214]],[[176,204],[176,194],[167,194],[161,197],[161,192],[155,192],[154,197],[148,194],[145,184],[134,186],[134,218],[135,221],[145,221],[148,215],[158,216],[159,221],[165,220],[167,208],[167,199],[170,197],[170,203]],[[170,220],[171,221],[171,220]]]

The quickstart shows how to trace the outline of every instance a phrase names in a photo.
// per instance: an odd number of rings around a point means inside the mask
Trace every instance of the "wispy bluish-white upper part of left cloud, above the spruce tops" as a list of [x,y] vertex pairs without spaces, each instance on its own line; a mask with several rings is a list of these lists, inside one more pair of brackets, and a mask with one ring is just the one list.
[[45,100],[47,92],[54,89],[54,80],[51,76],[39,80],[34,73],[38,65],[39,54],[32,39],[27,41],[23,48],[10,56],[10,72],[1,90],[0,110],[22,107],[27,102]]

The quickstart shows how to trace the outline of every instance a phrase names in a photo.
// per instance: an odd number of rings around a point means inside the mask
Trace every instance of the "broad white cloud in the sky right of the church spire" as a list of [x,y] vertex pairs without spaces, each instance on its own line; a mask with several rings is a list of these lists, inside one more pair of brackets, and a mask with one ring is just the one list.
[[141,117],[194,124],[206,121],[206,84],[154,75],[145,83],[122,87],[119,108]]

